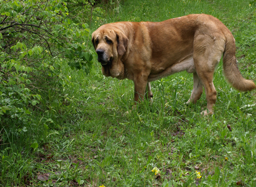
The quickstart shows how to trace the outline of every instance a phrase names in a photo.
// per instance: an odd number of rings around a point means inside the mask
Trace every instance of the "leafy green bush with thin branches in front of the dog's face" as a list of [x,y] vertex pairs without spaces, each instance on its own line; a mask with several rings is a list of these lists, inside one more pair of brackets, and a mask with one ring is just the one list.
[[63,63],[89,73],[89,25],[76,24],[59,0],[1,0],[0,5],[0,121],[26,123],[42,101],[40,93],[65,84]]

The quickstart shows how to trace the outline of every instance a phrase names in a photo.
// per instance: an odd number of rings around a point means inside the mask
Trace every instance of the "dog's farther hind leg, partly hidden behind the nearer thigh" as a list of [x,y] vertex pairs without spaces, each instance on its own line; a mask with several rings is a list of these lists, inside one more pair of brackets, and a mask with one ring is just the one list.
[[193,79],[194,79],[193,90],[192,90],[189,100],[185,104],[197,103],[197,100],[200,99],[200,97],[203,93],[203,84],[201,83],[196,72],[193,73]]

